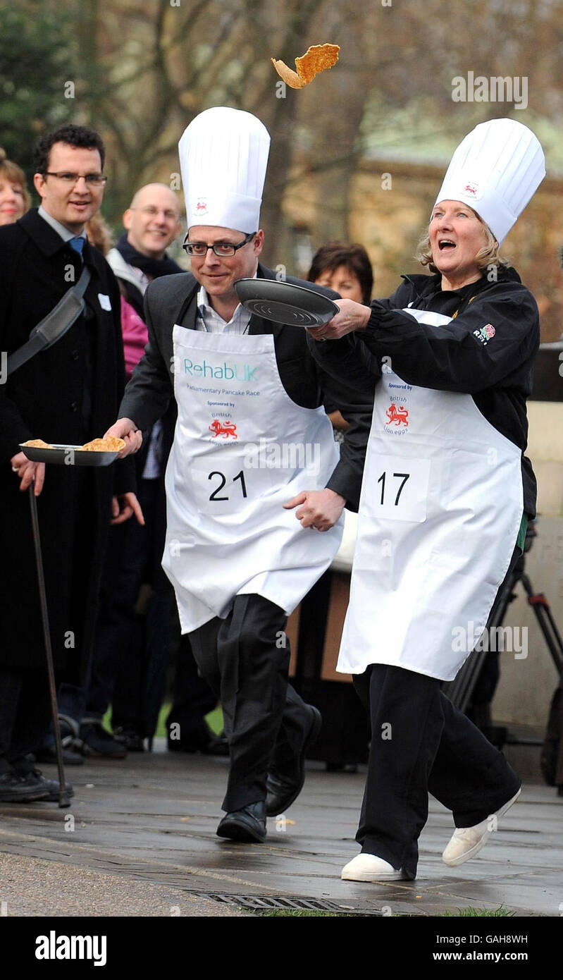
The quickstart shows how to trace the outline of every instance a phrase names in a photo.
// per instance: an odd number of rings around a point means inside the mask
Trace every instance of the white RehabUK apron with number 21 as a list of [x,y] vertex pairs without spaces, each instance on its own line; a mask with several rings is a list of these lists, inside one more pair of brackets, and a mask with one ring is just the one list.
[[303,528],[282,504],[321,490],[338,463],[324,409],[283,387],[271,334],[174,325],[178,419],[166,467],[163,567],[182,633],[257,593],[291,613],[336,554],[330,531]]

